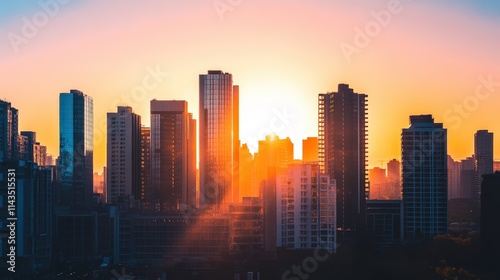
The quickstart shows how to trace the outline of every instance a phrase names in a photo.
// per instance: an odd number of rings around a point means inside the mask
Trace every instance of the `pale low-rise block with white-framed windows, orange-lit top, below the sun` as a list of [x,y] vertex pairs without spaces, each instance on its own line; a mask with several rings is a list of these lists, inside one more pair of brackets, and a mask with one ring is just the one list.
[[277,246],[335,250],[335,182],[317,163],[294,162],[276,181]]

